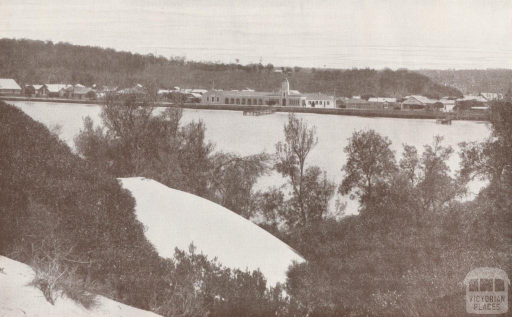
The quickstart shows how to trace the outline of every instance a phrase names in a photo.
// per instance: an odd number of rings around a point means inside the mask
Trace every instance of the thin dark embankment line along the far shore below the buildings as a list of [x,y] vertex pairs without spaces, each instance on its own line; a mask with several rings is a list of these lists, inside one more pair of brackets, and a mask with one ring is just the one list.
[[[100,105],[96,100],[77,100],[61,98],[29,98],[0,96],[3,101],[29,101],[29,102],[54,102],[54,103],[81,103]],[[235,104],[205,104],[205,103],[182,103],[158,102],[159,107],[185,108],[196,110],[230,110],[230,111],[261,111],[268,110],[266,105],[235,105]],[[302,107],[273,107],[276,112],[296,112],[327,114],[338,116],[359,116],[359,117],[382,117],[398,119],[451,119],[465,121],[487,121],[485,114],[479,113],[457,113],[457,112],[426,112],[410,110],[375,110],[375,109],[345,109],[345,108],[302,108]]]

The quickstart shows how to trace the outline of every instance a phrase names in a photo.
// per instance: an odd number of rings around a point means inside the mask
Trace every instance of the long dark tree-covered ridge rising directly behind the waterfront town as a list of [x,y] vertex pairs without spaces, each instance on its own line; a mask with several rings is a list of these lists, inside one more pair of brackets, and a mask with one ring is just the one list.
[[316,70],[300,67],[274,72],[262,64],[238,65],[186,61],[140,55],[114,49],[29,39],[0,39],[0,77],[26,83],[94,83],[148,88],[278,89],[288,77],[293,90],[338,96],[373,94],[399,97],[412,94],[457,96],[461,92],[407,70]]

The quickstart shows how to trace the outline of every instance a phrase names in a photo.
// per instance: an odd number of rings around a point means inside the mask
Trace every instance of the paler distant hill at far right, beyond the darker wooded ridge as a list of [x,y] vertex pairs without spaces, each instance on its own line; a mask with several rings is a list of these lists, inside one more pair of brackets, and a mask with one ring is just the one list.
[[512,88],[510,69],[470,69],[470,70],[431,70],[415,71],[428,76],[435,82],[454,87],[464,94],[506,93]]

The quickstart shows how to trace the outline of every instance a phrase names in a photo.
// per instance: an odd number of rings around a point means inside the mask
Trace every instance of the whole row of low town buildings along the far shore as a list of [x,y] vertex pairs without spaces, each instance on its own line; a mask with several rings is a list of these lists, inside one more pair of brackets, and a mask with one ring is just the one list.
[[[0,94],[26,95],[35,97],[56,97],[68,99],[96,99],[106,93],[125,94],[145,92],[141,84],[134,87],[118,89],[117,87],[85,87],[81,84],[37,84],[25,85],[21,88],[13,79],[0,79]],[[329,96],[323,93],[301,93],[290,89],[288,79],[283,80],[281,88],[272,92],[260,92],[252,89],[219,90],[219,89],[186,89],[173,87],[160,89],[158,95],[169,98],[170,95],[183,96],[186,102],[204,104],[237,104],[237,105],[279,105],[307,108],[347,108],[373,110],[411,110],[411,111],[443,111],[452,112],[458,105],[470,103],[472,110],[485,110],[490,101],[502,99],[498,93],[480,93],[466,95],[462,98],[443,97],[431,99],[425,96],[412,95],[404,98],[372,97],[368,100],[360,96],[351,98]]]

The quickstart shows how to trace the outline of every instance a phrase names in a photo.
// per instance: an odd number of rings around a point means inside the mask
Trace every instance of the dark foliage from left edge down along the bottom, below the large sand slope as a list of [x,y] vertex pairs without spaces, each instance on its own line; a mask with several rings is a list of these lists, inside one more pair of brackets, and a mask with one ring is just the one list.
[[4,102],[0,144],[0,254],[32,264],[50,302],[63,292],[90,306],[94,292],[169,316],[279,309],[282,293],[269,292],[259,271],[225,268],[193,248],[159,257],[130,193]]

